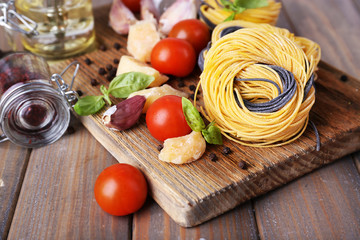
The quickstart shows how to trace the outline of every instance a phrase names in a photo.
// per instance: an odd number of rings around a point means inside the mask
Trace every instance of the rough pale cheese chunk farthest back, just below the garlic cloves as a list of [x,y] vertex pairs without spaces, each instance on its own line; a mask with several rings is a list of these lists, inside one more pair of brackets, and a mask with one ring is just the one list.
[[127,41],[127,50],[136,59],[150,62],[151,51],[160,41],[160,34],[153,21],[143,20],[131,25]]

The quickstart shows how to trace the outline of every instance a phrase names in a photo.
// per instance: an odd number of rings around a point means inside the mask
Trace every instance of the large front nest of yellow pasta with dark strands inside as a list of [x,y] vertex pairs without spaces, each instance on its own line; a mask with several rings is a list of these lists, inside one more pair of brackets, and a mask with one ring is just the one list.
[[214,29],[203,57],[197,87],[203,91],[202,112],[224,136],[270,147],[290,143],[305,131],[315,102],[318,44],[286,29],[231,21]]

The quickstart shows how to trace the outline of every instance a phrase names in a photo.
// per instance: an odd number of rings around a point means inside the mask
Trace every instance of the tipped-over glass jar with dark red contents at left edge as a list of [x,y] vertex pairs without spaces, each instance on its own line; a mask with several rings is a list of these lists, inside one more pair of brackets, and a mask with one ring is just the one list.
[[14,53],[0,60],[0,68],[1,141],[40,147],[58,140],[69,125],[71,105],[53,86],[45,59]]

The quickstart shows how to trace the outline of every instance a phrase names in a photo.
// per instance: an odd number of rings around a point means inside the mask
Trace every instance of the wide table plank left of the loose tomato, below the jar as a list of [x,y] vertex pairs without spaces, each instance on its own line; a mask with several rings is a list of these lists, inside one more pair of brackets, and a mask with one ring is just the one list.
[[130,217],[95,201],[97,176],[116,160],[84,129],[33,150],[9,239],[129,239]]

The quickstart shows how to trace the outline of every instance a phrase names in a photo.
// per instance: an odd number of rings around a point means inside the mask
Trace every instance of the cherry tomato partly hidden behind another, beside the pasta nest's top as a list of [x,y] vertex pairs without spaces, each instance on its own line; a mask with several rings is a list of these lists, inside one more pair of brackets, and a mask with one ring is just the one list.
[[199,54],[210,41],[210,31],[205,23],[198,19],[186,19],[173,26],[169,37],[188,41]]

